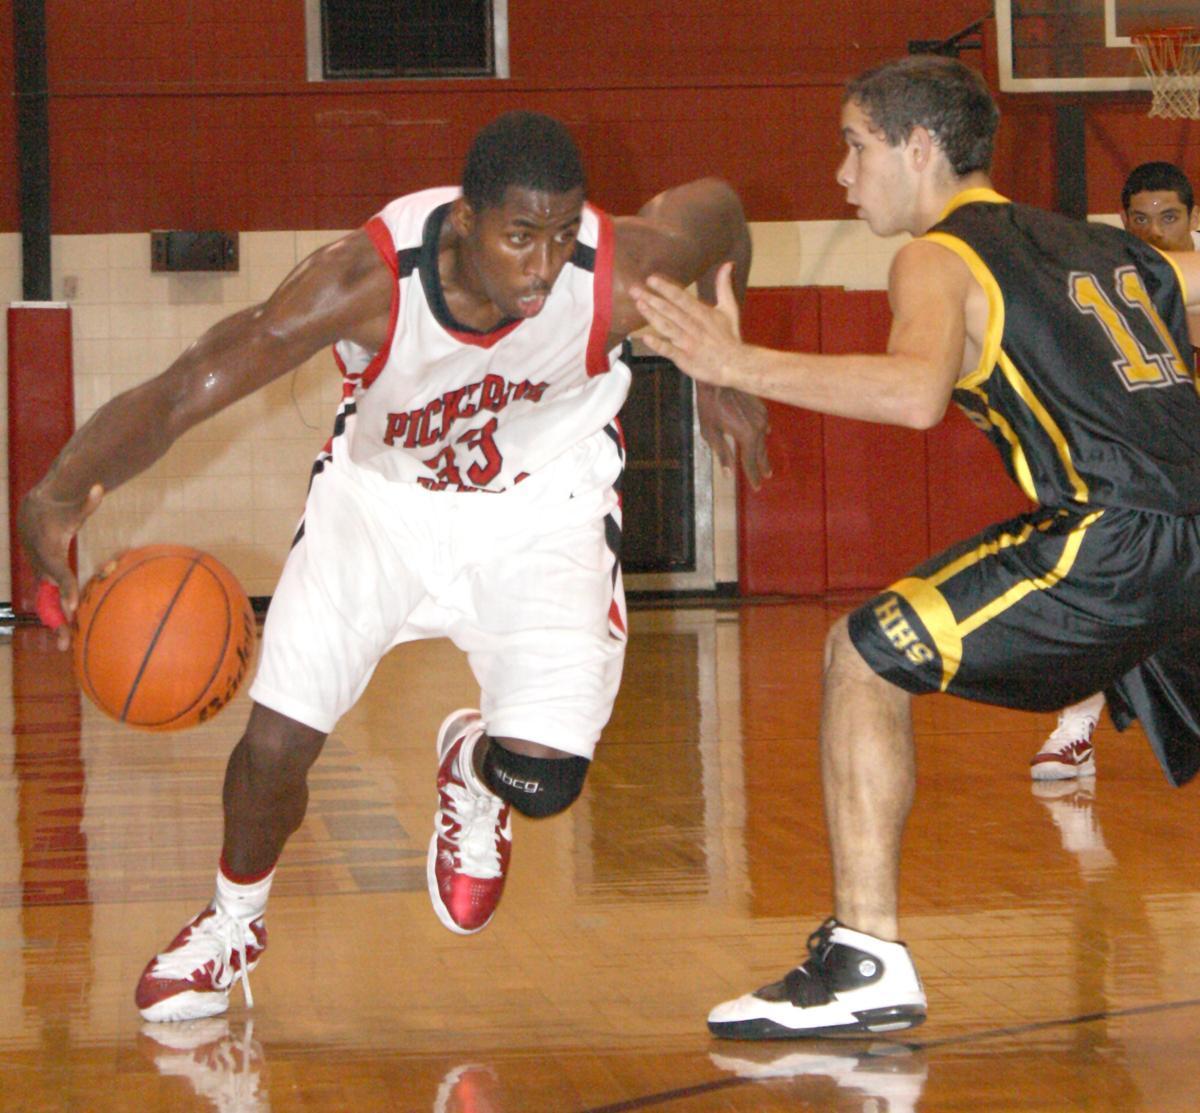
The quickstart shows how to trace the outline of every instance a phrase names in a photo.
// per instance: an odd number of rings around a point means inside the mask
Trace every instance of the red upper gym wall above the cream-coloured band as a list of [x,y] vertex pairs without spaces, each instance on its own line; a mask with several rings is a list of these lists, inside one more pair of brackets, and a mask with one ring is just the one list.
[[[305,80],[300,0],[47,5],[54,230],[346,228],[392,195],[454,181],[474,131],[535,107],[578,134],[592,194],[628,211],[664,186],[721,174],[751,219],[850,216],[833,184],[842,82],[948,36],[979,0],[510,0],[511,80]],[[833,14],[836,18],[832,18]],[[0,76],[11,88],[11,5]],[[995,88],[995,54],[980,65]],[[1146,97],[1085,100],[1090,207],[1112,211],[1148,157],[1200,173],[1200,127],[1148,121]],[[0,152],[14,166],[12,101]],[[1052,201],[1054,106],[1003,98],[996,179]],[[17,227],[16,175],[0,230]]]

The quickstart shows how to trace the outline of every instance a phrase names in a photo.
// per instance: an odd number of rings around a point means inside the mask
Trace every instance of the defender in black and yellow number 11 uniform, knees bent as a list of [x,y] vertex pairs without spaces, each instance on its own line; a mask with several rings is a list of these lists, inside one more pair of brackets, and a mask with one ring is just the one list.
[[810,355],[738,338],[652,277],[649,347],[702,381],[929,428],[949,402],[1039,509],[923,564],[826,646],[822,778],[834,918],[802,965],[713,1010],[719,1036],[887,1031],[925,995],[899,939],[913,693],[1057,710],[1104,691],[1168,778],[1200,769],[1200,395],[1187,308],[1200,255],[1009,203],[988,176],[998,112],[956,60],[912,56],[847,86],[838,181],[877,235],[916,239],[888,279],[887,351]]

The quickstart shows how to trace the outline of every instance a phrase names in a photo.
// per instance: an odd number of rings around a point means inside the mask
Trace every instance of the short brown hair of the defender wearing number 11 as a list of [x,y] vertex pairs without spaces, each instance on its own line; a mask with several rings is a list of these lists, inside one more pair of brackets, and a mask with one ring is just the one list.
[[876,66],[846,85],[846,101],[857,101],[892,146],[926,128],[959,178],[991,166],[1000,109],[984,79],[958,59],[913,54]]

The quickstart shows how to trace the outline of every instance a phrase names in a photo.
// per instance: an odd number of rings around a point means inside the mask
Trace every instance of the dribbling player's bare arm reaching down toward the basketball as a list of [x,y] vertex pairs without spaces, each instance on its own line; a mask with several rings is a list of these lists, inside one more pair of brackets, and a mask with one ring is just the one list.
[[[106,491],[149,468],[187,429],[340,338],[373,350],[395,283],[367,235],[313,253],[262,305],[214,325],[154,379],[106,403],[22,501],[18,530],[34,571],[53,580],[67,618],[78,603],[67,551]],[[68,634],[64,630],[60,644]]]

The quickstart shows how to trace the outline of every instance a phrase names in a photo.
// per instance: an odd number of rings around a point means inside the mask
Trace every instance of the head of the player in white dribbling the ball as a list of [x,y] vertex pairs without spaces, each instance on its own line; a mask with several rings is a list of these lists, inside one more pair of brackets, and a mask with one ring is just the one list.
[[535,317],[575,249],[583,161],[550,116],[510,112],[475,137],[454,209],[463,277],[504,317]]

